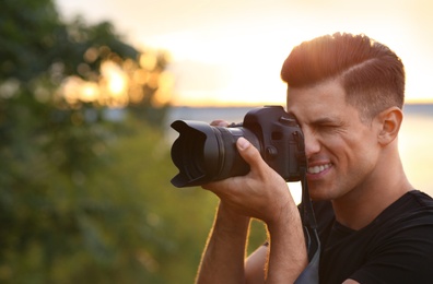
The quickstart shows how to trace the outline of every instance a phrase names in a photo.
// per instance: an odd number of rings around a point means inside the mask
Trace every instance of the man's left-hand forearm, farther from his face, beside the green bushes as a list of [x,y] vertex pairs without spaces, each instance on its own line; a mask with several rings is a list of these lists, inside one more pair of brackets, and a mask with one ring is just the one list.
[[197,283],[243,283],[245,247],[249,217],[241,216],[220,204]]

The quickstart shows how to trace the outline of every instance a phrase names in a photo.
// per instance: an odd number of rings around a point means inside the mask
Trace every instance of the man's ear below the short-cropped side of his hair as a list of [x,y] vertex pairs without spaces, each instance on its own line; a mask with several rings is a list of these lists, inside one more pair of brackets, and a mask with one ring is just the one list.
[[377,139],[379,144],[385,146],[397,138],[402,118],[402,110],[398,107],[387,108],[377,115],[376,119],[379,127]]

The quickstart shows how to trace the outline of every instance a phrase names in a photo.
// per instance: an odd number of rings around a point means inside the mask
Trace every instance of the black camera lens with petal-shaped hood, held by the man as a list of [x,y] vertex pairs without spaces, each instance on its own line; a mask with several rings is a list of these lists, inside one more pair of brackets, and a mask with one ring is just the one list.
[[176,120],[172,128],[179,132],[172,146],[172,159],[179,169],[172,179],[176,187],[200,186],[247,174],[249,166],[235,145],[239,137],[260,147],[256,135],[242,127],[223,128],[201,121]]

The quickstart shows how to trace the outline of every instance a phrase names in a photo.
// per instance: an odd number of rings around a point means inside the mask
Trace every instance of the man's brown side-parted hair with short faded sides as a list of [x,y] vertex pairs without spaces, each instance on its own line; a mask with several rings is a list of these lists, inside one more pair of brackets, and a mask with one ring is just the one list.
[[405,68],[387,46],[365,35],[333,34],[304,42],[283,63],[281,78],[291,87],[308,87],[337,79],[346,102],[372,119],[405,102]]

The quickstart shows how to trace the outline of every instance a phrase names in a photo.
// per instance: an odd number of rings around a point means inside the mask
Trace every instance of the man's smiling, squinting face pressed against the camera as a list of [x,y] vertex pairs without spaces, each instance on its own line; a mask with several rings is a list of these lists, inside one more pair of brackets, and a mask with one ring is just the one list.
[[[304,132],[307,182],[313,199],[356,197],[374,180],[379,154],[377,133],[344,100],[338,81],[290,88],[288,113]],[[350,194],[348,194],[350,192]]]

